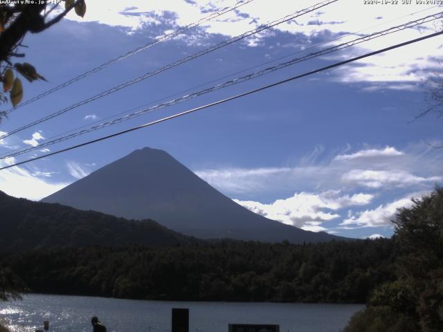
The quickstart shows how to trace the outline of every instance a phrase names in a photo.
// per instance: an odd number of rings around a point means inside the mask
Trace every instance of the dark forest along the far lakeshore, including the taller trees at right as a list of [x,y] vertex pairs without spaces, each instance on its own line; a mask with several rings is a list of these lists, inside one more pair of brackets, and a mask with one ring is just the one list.
[[[393,224],[392,239],[365,241],[3,252],[0,291],[10,297],[27,288],[134,299],[367,303],[345,332],[441,332],[443,189],[401,209]],[[5,287],[11,284],[15,293]]]

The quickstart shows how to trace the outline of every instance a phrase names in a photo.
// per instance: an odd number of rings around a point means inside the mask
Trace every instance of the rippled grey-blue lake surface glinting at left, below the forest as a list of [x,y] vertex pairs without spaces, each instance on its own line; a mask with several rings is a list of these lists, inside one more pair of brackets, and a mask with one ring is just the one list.
[[227,332],[229,323],[280,324],[280,332],[338,332],[356,304],[279,304],[167,302],[64,295],[26,295],[0,302],[0,320],[13,329],[35,331],[50,321],[50,331],[91,331],[97,315],[109,332],[168,332],[171,308],[190,309],[190,332]]

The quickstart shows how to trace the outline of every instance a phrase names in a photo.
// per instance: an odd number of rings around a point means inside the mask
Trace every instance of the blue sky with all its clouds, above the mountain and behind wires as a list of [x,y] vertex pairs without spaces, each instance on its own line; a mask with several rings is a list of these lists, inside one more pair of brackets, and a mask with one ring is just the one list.
[[[233,3],[89,0],[84,19],[69,15],[44,33],[26,37],[26,61],[49,82],[25,83],[24,100]],[[252,1],[17,109],[1,122],[0,131],[17,129],[314,3]],[[119,113],[174,99],[439,9],[339,0],[0,140],[0,154],[38,147],[53,136],[101,123]],[[433,33],[439,26],[441,20],[377,38],[48,149],[56,151]],[[271,219],[347,237],[389,237],[389,221],[397,208],[409,206],[410,197],[419,197],[442,183],[443,149],[429,143],[442,144],[443,121],[435,114],[415,120],[426,109],[424,82],[441,71],[441,45],[441,37],[436,37],[148,129],[3,170],[0,190],[41,199],[134,149],[148,146],[168,151],[237,203]],[[5,108],[8,106],[3,105]],[[0,160],[0,165],[46,152],[36,149]]]

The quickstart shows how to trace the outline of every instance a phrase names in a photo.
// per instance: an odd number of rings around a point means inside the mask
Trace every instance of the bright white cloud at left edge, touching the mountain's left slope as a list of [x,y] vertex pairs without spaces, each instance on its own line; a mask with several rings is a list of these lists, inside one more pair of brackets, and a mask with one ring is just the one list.
[[[12,165],[14,163],[14,158],[0,160],[0,166]],[[61,190],[66,185],[68,183],[48,183],[43,181],[21,167],[11,167],[0,171],[0,190],[10,196],[37,201]]]

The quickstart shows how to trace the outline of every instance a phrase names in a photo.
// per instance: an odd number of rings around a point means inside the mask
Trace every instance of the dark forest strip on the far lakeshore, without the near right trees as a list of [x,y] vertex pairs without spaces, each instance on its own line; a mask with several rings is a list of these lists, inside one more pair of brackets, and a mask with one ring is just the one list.
[[35,292],[134,299],[364,303],[393,278],[386,239],[316,245],[226,241],[3,255]]

